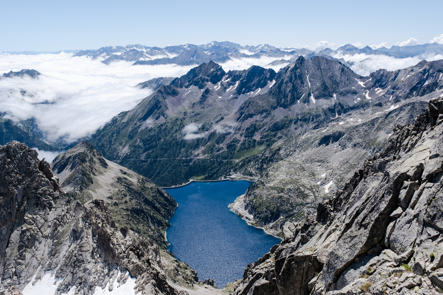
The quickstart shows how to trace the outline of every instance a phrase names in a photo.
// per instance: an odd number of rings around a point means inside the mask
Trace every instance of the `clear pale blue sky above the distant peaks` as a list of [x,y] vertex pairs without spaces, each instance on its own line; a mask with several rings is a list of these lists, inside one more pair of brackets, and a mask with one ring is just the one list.
[[443,1],[0,0],[0,51],[231,41],[395,45],[443,34]]

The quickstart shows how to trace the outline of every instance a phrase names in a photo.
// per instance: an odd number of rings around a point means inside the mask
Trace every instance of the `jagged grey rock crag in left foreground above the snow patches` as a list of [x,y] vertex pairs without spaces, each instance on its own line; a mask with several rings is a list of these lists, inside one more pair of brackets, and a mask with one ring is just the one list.
[[48,277],[54,294],[94,294],[125,284],[135,293],[178,294],[158,245],[119,229],[103,200],[82,205],[69,198],[49,164],[23,143],[0,146],[0,161],[2,294],[38,288]]

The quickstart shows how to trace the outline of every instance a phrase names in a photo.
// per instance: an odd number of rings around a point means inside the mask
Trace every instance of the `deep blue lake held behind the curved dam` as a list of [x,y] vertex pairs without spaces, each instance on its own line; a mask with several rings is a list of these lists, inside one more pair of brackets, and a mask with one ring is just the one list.
[[249,226],[228,208],[246,192],[249,181],[192,182],[166,189],[179,203],[169,222],[169,251],[219,288],[243,277],[246,265],[256,261],[280,239]]

